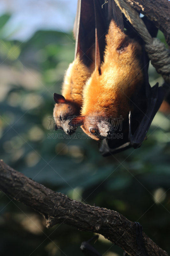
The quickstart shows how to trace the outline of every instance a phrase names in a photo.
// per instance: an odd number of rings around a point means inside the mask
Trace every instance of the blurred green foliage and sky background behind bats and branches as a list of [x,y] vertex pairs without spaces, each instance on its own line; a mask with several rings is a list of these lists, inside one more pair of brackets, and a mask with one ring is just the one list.
[[[76,5],[76,0],[0,2],[1,159],[54,191],[139,221],[170,253],[169,109],[157,113],[141,148],[106,158],[92,139],[59,139],[61,131],[49,130],[53,93],[60,93],[74,59]],[[166,44],[160,31],[158,37]],[[151,65],[149,79],[151,85],[163,83]],[[80,245],[92,235],[67,225],[48,230],[37,212],[0,192],[1,255],[83,255]],[[123,255],[102,236],[94,247],[105,256]]]

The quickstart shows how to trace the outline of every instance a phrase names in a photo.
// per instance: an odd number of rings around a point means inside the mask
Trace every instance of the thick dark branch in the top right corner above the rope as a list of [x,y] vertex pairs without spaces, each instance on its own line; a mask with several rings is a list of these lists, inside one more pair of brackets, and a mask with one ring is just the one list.
[[168,0],[126,0],[132,7],[137,9],[153,20],[157,28],[165,35],[167,44],[170,46],[170,1]]

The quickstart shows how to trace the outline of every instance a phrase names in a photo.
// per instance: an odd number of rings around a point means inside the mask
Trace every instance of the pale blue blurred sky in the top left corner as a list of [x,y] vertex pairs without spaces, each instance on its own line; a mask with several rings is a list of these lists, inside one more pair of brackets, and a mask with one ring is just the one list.
[[40,29],[70,32],[76,9],[77,0],[1,0],[0,15],[11,14],[1,37],[24,41]]

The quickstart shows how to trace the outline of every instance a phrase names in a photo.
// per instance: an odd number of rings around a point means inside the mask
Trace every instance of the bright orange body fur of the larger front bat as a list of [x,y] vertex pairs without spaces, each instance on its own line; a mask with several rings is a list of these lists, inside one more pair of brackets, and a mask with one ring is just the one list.
[[142,49],[133,39],[111,21],[106,36],[107,46],[101,75],[98,68],[88,79],[83,91],[81,116],[85,116],[81,126],[83,131],[95,140],[99,140],[89,131],[95,126],[89,116],[102,116],[104,119],[122,115],[127,119],[130,111],[130,98],[137,93],[144,81],[140,64]]

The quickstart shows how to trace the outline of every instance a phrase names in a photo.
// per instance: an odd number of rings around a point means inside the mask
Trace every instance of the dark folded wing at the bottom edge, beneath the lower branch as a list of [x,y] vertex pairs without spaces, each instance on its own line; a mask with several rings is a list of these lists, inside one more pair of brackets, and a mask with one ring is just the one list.
[[92,247],[92,245],[90,244],[90,242],[93,240],[93,239],[98,239],[99,236],[96,235],[96,236],[93,236],[91,239],[89,239],[87,242],[83,242],[81,244],[81,251],[85,254],[85,256],[101,256],[101,254],[96,251],[96,249],[94,249]]

